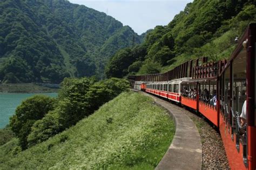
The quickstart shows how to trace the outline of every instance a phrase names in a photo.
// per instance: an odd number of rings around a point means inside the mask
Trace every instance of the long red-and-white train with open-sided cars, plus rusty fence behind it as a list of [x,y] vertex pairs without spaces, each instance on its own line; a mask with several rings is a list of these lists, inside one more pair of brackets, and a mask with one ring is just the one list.
[[252,23],[229,60],[210,62],[201,57],[165,73],[128,79],[134,89],[206,117],[220,132],[231,169],[256,169],[255,51],[256,23]]

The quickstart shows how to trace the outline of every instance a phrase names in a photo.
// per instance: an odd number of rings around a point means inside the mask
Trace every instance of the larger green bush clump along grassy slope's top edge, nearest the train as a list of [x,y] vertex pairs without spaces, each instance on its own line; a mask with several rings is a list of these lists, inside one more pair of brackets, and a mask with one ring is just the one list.
[[64,79],[57,107],[35,122],[28,136],[28,145],[36,145],[87,117],[102,104],[129,88],[126,80],[112,78]]

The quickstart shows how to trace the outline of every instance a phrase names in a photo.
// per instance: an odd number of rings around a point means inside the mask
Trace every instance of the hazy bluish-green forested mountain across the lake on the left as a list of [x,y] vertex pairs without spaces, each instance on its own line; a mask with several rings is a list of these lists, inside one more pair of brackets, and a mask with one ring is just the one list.
[[120,48],[142,41],[103,12],[65,0],[0,1],[0,81],[59,83],[103,77]]

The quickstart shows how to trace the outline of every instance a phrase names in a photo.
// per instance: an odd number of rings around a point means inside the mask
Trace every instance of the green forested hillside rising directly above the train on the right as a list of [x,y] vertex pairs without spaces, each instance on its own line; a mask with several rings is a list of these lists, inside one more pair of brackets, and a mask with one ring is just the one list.
[[253,0],[194,0],[168,25],[149,32],[143,44],[114,54],[105,74],[123,77],[166,72],[201,56],[228,59],[236,45],[235,37],[256,22],[255,5]]

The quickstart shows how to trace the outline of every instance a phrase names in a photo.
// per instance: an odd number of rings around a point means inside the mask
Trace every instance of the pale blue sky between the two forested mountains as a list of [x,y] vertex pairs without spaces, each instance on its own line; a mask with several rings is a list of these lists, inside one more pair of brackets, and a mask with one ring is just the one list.
[[192,0],[69,0],[105,12],[142,34],[157,25],[167,25]]

